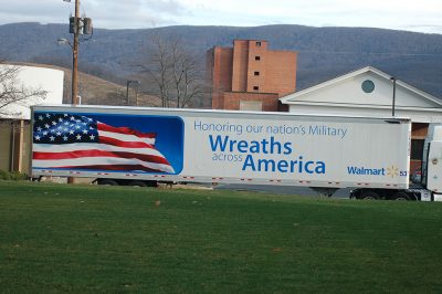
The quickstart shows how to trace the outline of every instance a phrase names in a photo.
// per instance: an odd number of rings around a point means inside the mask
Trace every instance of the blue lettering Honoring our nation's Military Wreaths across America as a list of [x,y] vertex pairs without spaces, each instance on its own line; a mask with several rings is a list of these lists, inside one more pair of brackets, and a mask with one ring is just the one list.
[[[239,164],[242,171],[283,174],[326,174],[326,162],[296,149],[303,137],[344,139],[348,129],[322,124],[254,125],[193,122],[193,129],[207,133],[212,160]],[[248,136],[244,136],[248,134]]]

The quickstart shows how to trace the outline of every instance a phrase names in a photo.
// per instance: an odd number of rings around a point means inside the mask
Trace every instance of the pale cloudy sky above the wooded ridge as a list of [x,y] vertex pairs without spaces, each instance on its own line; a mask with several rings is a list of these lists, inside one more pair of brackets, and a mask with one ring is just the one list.
[[[66,23],[74,0],[0,0],[0,24]],[[304,24],[369,27],[442,34],[441,0],[82,0],[81,13],[101,29],[165,25]]]

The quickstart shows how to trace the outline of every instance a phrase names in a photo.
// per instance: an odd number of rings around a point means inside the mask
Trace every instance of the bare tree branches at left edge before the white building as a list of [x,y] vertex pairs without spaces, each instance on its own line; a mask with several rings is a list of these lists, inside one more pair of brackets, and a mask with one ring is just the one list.
[[42,88],[25,86],[19,80],[20,65],[0,62],[0,115],[20,115],[8,109],[10,105],[29,106],[44,99],[48,92]]

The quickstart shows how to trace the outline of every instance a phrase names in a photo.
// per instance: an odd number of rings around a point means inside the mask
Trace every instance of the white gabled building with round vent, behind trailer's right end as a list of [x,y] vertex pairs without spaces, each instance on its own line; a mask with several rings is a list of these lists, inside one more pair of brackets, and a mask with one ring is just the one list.
[[[280,101],[297,114],[394,116],[412,120],[411,169],[421,164],[423,139],[431,123],[442,123],[442,101],[375,67],[364,67]],[[381,144],[381,143],[379,143]]]

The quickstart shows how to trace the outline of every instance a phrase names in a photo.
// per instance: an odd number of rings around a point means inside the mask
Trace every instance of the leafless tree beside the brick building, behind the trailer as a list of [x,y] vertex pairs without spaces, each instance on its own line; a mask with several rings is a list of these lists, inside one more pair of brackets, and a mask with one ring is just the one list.
[[147,62],[138,65],[148,73],[162,107],[188,107],[203,95],[199,60],[190,54],[181,39],[155,35],[147,49]]

